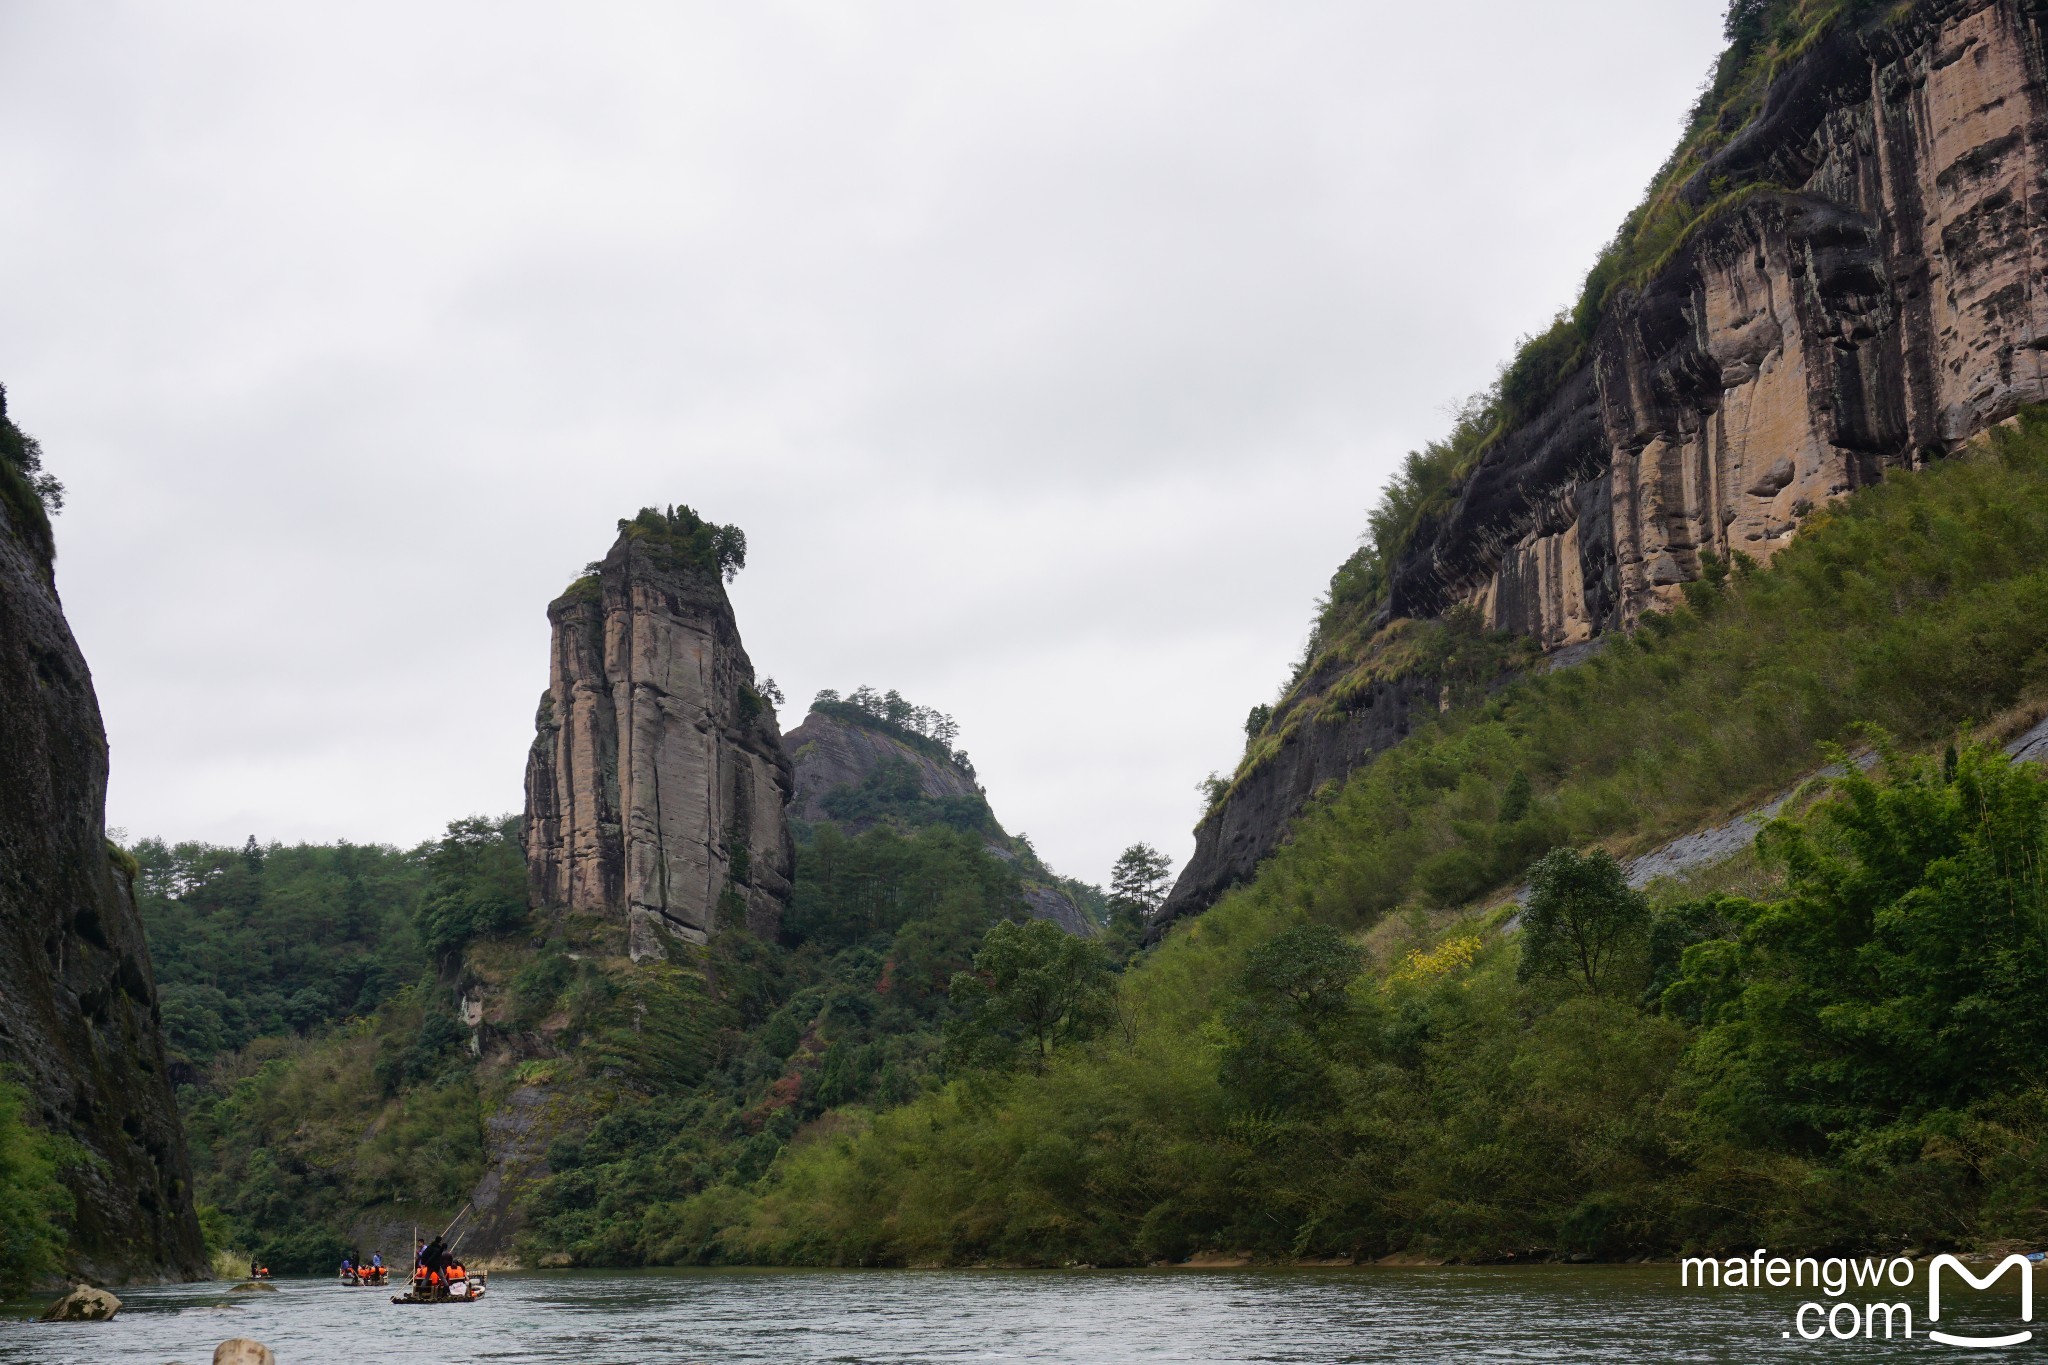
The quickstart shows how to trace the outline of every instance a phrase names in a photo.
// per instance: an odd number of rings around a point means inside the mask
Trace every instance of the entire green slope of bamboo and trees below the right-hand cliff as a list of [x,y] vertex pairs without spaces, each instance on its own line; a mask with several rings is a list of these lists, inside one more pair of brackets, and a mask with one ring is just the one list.
[[[2028,413],[1358,769],[1139,958],[1126,1025],[844,1111],[676,1218],[797,1263],[2040,1240],[2048,794],[1980,741],[1911,753],[2040,714],[2042,565]],[[1694,829],[1868,722],[1884,772],[1741,866],[1645,900],[1556,855],[1509,931],[1544,849]]]

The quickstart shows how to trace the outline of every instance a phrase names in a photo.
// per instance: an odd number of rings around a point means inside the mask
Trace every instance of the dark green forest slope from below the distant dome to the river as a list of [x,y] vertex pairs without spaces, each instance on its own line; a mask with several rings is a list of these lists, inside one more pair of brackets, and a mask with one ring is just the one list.
[[797,1132],[936,1083],[948,982],[991,925],[1024,917],[1022,892],[1018,868],[944,825],[817,829],[799,851],[786,941],[727,929],[711,943],[709,1074],[616,1087],[600,1119],[559,1140],[526,1250],[578,1265],[729,1254],[721,1209],[750,1197]]

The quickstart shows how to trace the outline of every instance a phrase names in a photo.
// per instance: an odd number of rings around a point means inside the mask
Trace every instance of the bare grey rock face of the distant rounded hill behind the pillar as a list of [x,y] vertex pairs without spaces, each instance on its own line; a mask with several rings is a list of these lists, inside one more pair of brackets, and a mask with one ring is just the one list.
[[[938,757],[924,745],[897,739],[877,726],[858,724],[842,716],[813,710],[795,731],[782,737],[782,747],[795,769],[795,796],[791,814],[811,823],[834,823],[848,833],[860,833],[874,821],[840,819],[825,800],[834,792],[852,792],[868,784],[887,767],[907,772],[915,792],[928,800],[977,802],[991,829],[985,835],[989,853],[1004,862],[1016,862],[1020,847],[987,812],[981,788],[954,763]],[[1030,866],[1030,864],[1028,864]],[[1073,896],[1051,882],[1036,880],[1026,872],[1024,902],[1038,919],[1051,919],[1067,933],[1094,935],[1098,925],[1073,902]]]

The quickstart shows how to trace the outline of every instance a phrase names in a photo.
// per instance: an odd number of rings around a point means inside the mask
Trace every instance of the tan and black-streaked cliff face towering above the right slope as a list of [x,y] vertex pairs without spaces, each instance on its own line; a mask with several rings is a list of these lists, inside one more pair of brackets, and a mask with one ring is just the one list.
[[[1708,557],[1765,563],[1829,499],[2048,399],[2044,12],[1919,0],[1790,57],[1673,186],[1698,211],[1686,235],[1386,567],[1374,624],[1468,606],[1583,647],[1677,602]],[[1432,694],[1343,688],[1346,665],[1319,659],[1284,698],[1280,743],[1196,829],[1161,927],[1247,878]]]

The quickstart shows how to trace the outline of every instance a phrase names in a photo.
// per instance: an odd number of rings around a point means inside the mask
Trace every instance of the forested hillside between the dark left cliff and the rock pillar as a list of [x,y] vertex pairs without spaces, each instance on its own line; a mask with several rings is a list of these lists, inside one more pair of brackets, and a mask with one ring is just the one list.
[[[133,857],[209,1246],[328,1271],[365,1220],[461,1207],[483,1095],[436,966],[524,927],[518,821],[412,851],[143,839]],[[616,1064],[616,1009],[582,1019]]]

